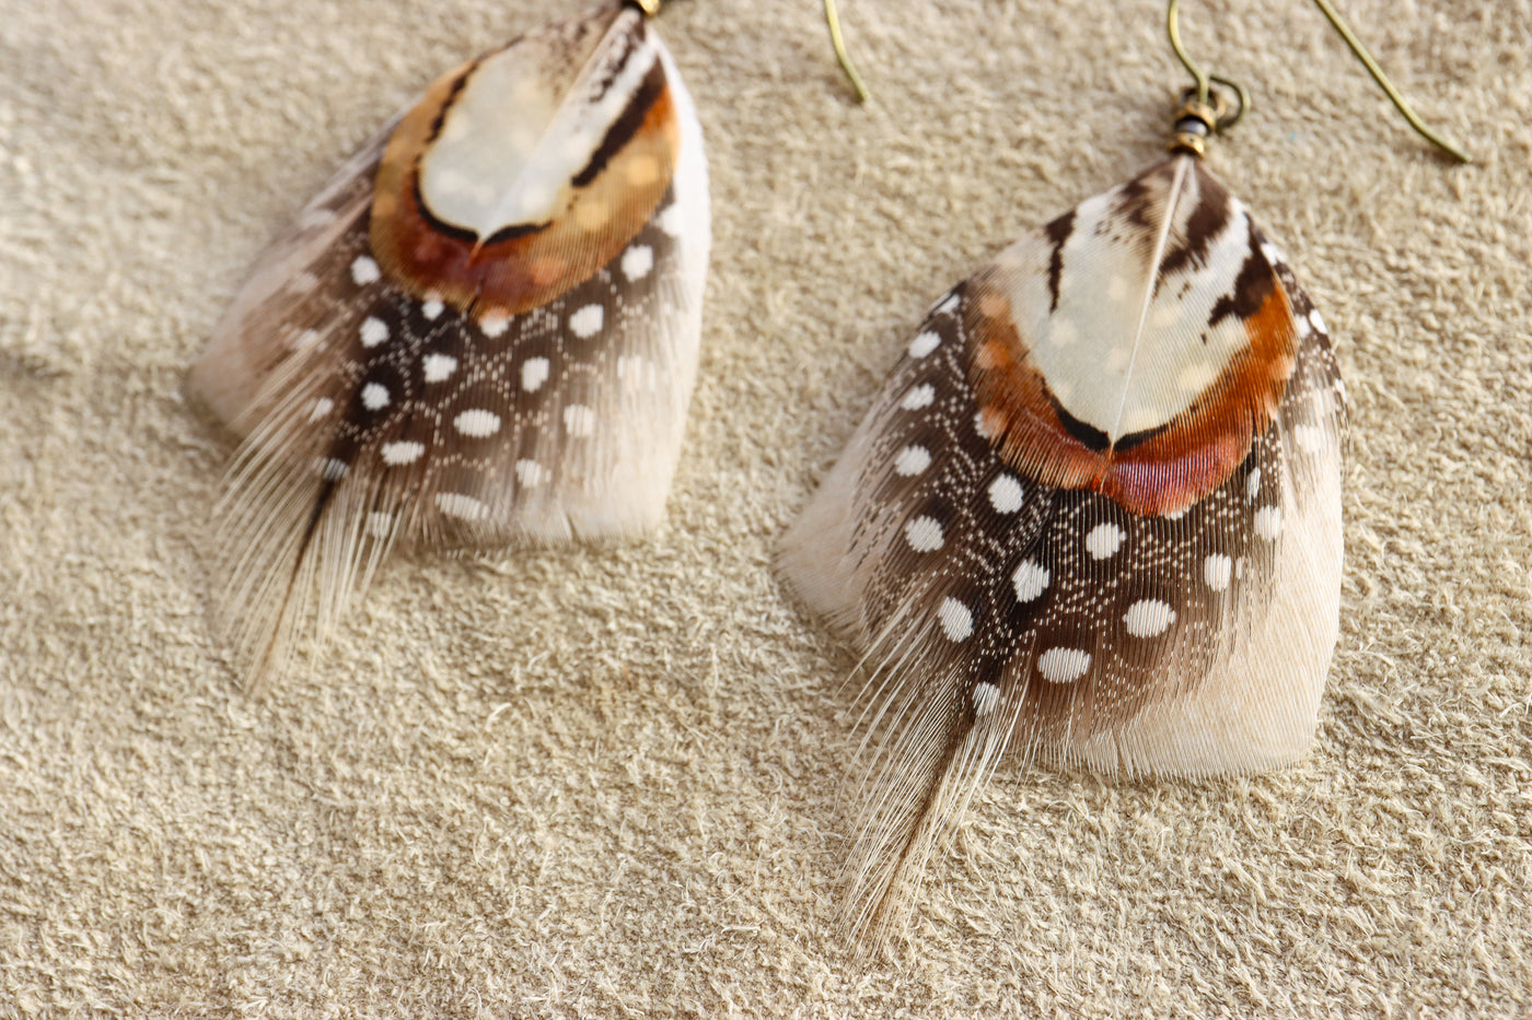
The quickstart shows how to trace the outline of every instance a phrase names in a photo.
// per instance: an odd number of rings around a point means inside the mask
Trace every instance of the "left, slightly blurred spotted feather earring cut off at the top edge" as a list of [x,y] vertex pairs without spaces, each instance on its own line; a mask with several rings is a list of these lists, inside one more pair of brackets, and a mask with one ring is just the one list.
[[620,3],[450,72],[342,167],[188,380],[242,435],[214,562],[247,685],[395,548],[657,527],[709,237],[691,100]]

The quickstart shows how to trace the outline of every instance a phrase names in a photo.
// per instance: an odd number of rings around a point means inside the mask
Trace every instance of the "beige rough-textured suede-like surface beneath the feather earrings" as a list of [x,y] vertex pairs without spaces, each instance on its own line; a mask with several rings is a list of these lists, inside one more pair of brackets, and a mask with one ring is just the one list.
[[[1281,775],[1007,770],[908,939],[832,927],[852,660],[775,538],[927,303],[1158,158],[1158,2],[660,21],[717,240],[669,525],[400,561],[311,675],[218,659],[227,455],[179,386],[262,248],[432,77],[553,0],[0,0],[0,1015],[1526,1015],[1532,6],[1187,5],[1256,109],[1210,165],[1353,409],[1342,636]],[[429,14],[427,14],[429,12]]]

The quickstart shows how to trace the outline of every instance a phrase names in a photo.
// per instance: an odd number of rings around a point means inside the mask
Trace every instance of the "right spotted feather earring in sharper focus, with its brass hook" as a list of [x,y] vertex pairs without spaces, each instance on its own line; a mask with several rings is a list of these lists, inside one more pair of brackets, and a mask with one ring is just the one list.
[[1175,0],[1169,29],[1196,78],[1170,156],[936,302],[783,541],[784,580],[872,674],[859,937],[890,933],[1007,752],[1210,776],[1311,740],[1345,391],[1293,270],[1203,165],[1246,92],[1190,63]]

